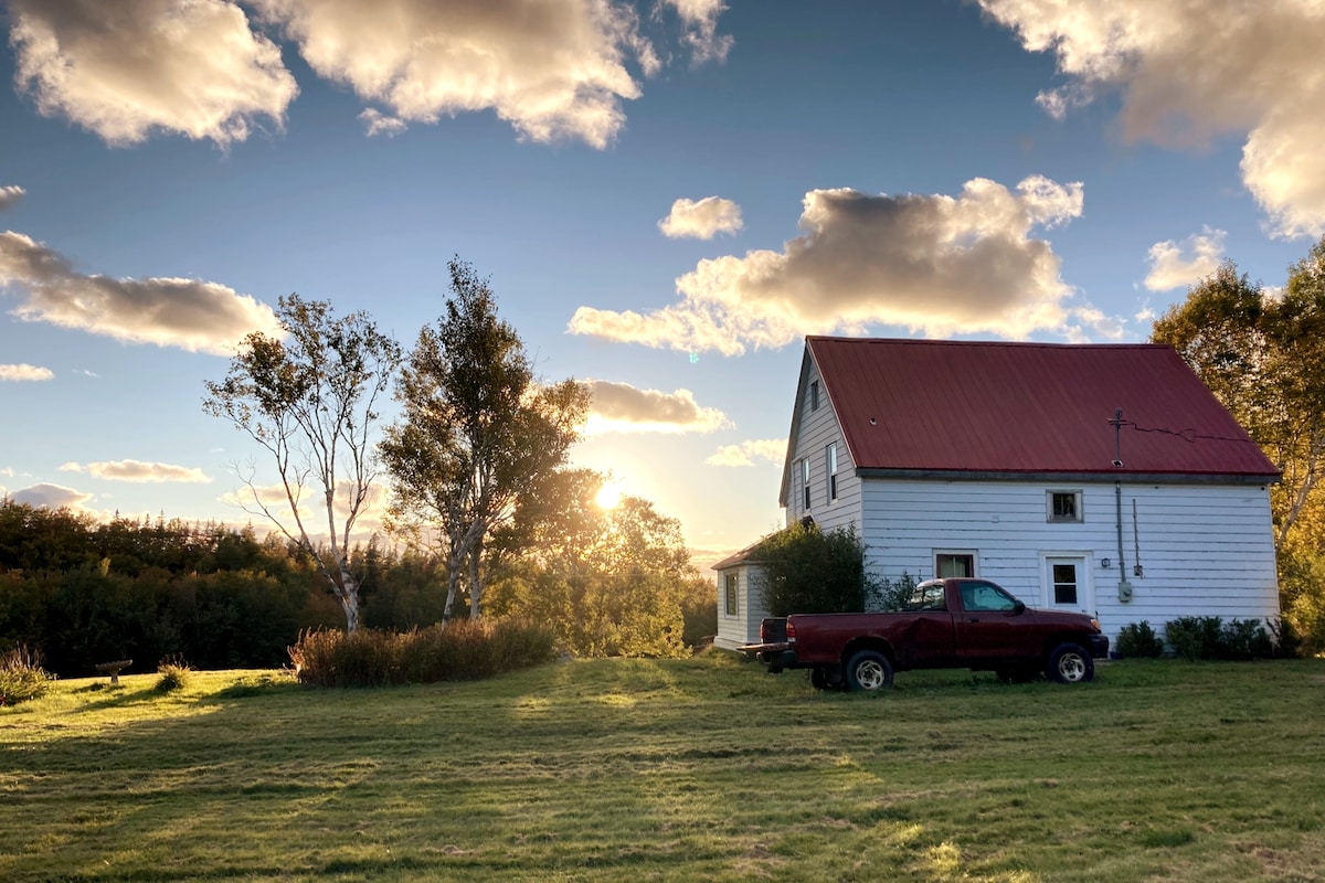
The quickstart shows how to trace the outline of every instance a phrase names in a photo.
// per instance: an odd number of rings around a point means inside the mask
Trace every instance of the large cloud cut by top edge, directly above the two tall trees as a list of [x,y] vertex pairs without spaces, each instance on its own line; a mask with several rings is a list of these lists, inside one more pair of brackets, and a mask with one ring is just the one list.
[[633,8],[610,0],[252,0],[322,77],[400,122],[492,109],[535,142],[606,147],[659,68]]

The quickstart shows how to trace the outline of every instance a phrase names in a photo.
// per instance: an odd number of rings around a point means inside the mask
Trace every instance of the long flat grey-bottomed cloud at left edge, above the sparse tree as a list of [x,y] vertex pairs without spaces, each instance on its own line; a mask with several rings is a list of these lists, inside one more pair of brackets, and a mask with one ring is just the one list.
[[83,275],[29,237],[0,233],[0,290],[26,297],[13,314],[127,343],[231,355],[250,331],[281,335],[272,308],[215,282]]

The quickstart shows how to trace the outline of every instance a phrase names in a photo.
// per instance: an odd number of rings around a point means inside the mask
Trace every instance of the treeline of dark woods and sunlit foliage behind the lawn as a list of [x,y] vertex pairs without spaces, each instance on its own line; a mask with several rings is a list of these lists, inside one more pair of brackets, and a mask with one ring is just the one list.
[[[713,634],[717,609],[708,580],[670,552],[678,567],[669,572],[647,572],[641,561],[612,572],[598,561],[571,573],[550,556],[511,559],[493,575],[493,613],[547,622],[580,655],[685,653]],[[436,557],[371,541],[350,561],[363,627],[441,621],[448,575]],[[164,516],[102,523],[0,500],[0,651],[36,650],[60,676],[119,659],[134,659],[131,671],[154,671],[167,658],[199,669],[281,667],[301,631],[343,622],[311,556],[277,535]]]

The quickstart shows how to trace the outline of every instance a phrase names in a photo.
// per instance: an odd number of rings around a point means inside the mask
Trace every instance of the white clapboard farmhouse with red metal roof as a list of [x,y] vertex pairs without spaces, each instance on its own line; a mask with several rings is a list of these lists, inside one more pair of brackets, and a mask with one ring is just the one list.
[[[1116,639],[1275,618],[1279,470],[1158,344],[806,339],[780,503],[855,524],[880,577],[979,576]],[[758,561],[718,571],[717,645],[758,639]]]

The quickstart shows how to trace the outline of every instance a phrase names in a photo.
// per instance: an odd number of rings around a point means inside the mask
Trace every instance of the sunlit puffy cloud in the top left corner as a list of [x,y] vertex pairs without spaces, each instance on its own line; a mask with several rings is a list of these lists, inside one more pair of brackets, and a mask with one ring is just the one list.
[[111,144],[178,132],[242,142],[298,93],[231,0],[9,0],[16,81],[46,116]]

